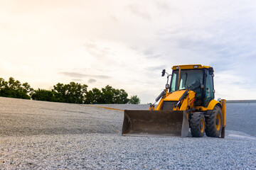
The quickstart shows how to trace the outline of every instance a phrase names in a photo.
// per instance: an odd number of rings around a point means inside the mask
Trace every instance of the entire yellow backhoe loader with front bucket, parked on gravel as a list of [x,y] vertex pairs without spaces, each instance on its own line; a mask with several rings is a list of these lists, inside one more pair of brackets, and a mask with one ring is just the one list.
[[122,135],[186,137],[190,130],[193,137],[206,133],[208,137],[224,138],[225,99],[214,100],[213,67],[191,64],[172,69],[172,74],[163,70],[166,88],[149,111],[124,110]]

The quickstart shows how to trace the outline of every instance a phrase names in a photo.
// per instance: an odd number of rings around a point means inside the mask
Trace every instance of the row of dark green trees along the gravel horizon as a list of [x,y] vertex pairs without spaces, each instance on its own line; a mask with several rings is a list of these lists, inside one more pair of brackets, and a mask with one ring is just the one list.
[[105,88],[93,88],[87,91],[86,84],[70,82],[69,84],[55,84],[52,90],[37,89],[34,90],[28,83],[21,84],[20,81],[13,77],[9,81],[0,78],[0,96],[10,98],[25,98],[35,101],[53,101],[62,103],[85,103],[85,104],[139,104],[138,96],[131,96],[124,89],[114,89],[112,86]]

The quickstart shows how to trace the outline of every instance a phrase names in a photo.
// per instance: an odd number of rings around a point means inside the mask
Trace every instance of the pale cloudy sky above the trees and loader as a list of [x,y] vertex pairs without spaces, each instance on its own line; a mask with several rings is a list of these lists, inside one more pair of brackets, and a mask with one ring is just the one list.
[[154,103],[178,64],[214,68],[215,99],[256,99],[256,1],[0,0],[0,77],[107,85]]

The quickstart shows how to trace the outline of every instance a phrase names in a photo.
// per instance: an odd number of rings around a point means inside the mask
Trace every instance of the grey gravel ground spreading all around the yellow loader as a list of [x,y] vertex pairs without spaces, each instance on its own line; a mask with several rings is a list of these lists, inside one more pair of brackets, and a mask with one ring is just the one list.
[[[243,112],[240,124],[253,113]],[[105,108],[0,98],[0,169],[256,169],[255,128],[230,128],[225,139],[124,137],[122,120]]]

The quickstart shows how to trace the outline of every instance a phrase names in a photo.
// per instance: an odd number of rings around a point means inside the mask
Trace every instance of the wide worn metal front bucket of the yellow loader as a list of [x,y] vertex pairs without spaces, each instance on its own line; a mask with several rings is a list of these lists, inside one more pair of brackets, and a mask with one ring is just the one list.
[[124,110],[122,135],[188,136],[186,111]]

